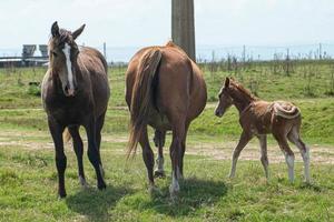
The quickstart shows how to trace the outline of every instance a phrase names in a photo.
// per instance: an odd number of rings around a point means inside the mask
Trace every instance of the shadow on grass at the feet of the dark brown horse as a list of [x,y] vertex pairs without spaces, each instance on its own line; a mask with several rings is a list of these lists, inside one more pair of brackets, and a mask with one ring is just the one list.
[[108,185],[104,191],[88,188],[67,196],[66,204],[71,211],[86,215],[88,221],[108,221],[110,220],[108,211],[115,206],[119,199],[131,193],[132,190],[127,186]]

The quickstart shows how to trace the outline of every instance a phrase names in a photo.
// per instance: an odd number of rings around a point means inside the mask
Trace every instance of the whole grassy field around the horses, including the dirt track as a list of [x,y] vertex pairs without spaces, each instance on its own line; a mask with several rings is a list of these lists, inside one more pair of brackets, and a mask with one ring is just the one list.
[[[296,62],[285,73],[271,63],[254,63],[228,71],[224,65],[203,65],[208,104],[190,127],[185,159],[185,180],[179,199],[169,199],[167,178],[156,180],[159,192],[147,192],[140,152],[126,161],[128,111],[124,100],[125,68],[109,70],[111,100],[101,147],[106,191],[97,191],[87,155],[90,188],[82,190],[76,158],[67,144],[68,196],[56,195],[53,145],[41,110],[39,89],[46,69],[0,70],[0,220],[1,221],[333,221],[334,220],[334,98],[333,62]],[[275,72],[273,71],[275,69]],[[258,161],[257,141],[242,153],[237,176],[228,180],[230,154],[240,132],[235,109],[214,117],[217,92],[233,75],[266,100],[289,100],[303,113],[302,137],[312,152],[312,184],[303,183],[303,164],[296,151],[296,182],[277,144],[269,139],[271,180]],[[150,131],[151,133],[153,131]],[[84,133],[82,133],[84,134]],[[84,137],[85,138],[85,137]],[[169,144],[170,137],[167,138]]]

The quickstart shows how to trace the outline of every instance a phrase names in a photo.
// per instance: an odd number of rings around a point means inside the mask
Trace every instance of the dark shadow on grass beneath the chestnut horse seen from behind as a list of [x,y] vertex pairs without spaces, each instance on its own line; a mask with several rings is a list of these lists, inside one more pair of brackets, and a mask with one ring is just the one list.
[[197,178],[185,179],[180,182],[180,193],[177,200],[169,196],[168,186],[161,194],[154,194],[149,202],[141,204],[141,210],[154,210],[170,216],[186,216],[194,211],[209,206],[227,194],[227,185],[223,181],[207,181]]

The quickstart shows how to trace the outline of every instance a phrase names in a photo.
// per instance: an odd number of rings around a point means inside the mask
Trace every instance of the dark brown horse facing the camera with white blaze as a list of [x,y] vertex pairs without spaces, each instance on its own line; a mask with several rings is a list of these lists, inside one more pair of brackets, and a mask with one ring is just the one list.
[[91,48],[78,48],[75,40],[85,24],[75,32],[51,28],[49,41],[49,69],[42,82],[42,102],[48,115],[49,130],[56,149],[58,194],[66,196],[62,133],[66,128],[73,139],[78,160],[79,180],[86,185],[82,165],[84,147],[79,127],[84,125],[88,138],[88,158],[95,168],[98,189],[105,189],[100,158],[101,129],[109,100],[107,62],[102,54]]

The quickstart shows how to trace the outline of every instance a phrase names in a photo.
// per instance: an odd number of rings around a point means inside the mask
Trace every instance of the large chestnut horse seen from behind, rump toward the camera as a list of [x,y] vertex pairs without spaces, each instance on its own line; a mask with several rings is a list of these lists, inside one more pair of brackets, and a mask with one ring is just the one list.
[[[206,84],[198,67],[177,46],[149,47],[131,59],[126,74],[126,101],[130,110],[129,153],[137,143],[143,149],[149,186],[154,188],[154,153],[147,125],[156,130],[155,142],[161,148],[165,132],[173,131],[170,159],[173,183],[169,192],[179,191],[186,135],[191,120],[206,103]],[[159,162],[160,170],[163,162]]]

